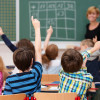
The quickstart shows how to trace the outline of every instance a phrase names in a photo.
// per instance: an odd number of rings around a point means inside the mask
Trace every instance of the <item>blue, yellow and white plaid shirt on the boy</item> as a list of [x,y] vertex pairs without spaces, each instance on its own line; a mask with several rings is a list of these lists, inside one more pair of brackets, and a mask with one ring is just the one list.
[[74,73],[65,73],[61,70],[59,76],[59,93],[76,92],[81,100],[87,100],[86,91],[91,87],[93,77],[90,73],[87,73],[86,68]]

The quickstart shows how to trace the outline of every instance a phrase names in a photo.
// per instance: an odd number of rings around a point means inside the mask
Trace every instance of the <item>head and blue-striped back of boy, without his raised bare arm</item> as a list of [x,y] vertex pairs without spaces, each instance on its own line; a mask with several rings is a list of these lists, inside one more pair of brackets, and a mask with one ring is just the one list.
[[[33,57],[33,53],[30,50],[17,49],[14,52],[14,63],[22,72],[8,76],[4,94],[32,94],[41,91],[42,65],[39,62],[35,62],[34,67],[32,67]],[[31,67],[32,70],[29,71]]]

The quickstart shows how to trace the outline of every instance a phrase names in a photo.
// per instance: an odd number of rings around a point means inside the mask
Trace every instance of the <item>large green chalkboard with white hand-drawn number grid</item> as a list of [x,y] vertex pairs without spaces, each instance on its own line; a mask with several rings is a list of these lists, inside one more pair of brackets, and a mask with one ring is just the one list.
[[[100,8],[100,0],[20,0],[20,39],[34,41],[31,16],[40,20],[41,37],[53,26],[51,41],[81,41],[84,39],[88,7]],[[100,20],[100,18],[98,19]]]

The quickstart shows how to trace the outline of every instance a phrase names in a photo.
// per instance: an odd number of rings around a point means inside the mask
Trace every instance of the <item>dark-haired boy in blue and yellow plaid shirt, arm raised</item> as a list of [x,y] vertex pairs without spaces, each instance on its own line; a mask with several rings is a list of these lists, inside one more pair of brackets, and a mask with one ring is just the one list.
[[61,58],[63,70],[59,74],[59,93],[76,92],[81,100],[87,100],[86,91],[91,87],[93,77],[87,73],[86,60],[84,64],[83,60],[98,49],[100,49],[100,42],[95,43],[92,49],[83,52],[82,55],[74,49],[68,49],[64,52]]

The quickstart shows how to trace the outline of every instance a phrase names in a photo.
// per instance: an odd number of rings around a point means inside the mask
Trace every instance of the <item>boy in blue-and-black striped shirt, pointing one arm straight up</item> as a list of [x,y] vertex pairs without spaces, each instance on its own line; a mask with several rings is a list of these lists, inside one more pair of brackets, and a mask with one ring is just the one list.
[[[20,73],[9,76],[6,79],[4,94],[18,94],[26,93],[31,95],[34,92],[41,91],[41,36],[40,36],[40,22],[33,19],[32,24],[35,29],[35,55],[28,48],[19,48],[13,54],[13,61]],[[35,61],[34,60],[35,56]],[[34,66],[32,66],[34,64]],[[32,70],[30,68],[32,66]]]

